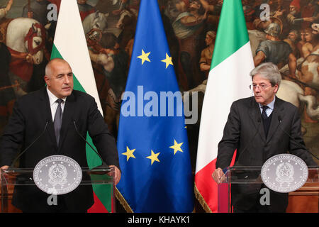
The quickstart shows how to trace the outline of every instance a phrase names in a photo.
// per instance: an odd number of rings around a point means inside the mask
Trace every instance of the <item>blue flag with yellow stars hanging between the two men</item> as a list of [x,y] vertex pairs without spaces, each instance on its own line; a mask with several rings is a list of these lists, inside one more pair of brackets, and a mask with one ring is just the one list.
[[183,102],[157,0],[140,3],[122,99],[118,199],[133,212],[193,211]]

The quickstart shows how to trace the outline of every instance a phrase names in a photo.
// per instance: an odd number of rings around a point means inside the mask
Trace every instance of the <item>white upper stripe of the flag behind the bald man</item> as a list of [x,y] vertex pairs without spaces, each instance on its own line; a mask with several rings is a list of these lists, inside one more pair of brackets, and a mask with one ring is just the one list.
[[[61,1],[54,44],[63,59],[69,62],[74,76],[77,77],[85,92],[94,96],[99,111],[103,114],[89,50],[87,49],[82,23],[79,23],[81,18],[77,9],[77,0]],[[66,21],[67,23],[65,23]],[[69,25],[72,25],[72,27]]]

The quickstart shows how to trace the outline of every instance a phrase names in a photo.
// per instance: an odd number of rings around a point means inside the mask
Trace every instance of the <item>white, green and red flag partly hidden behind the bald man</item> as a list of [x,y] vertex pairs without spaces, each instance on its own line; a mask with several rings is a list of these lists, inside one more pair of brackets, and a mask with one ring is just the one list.
[[[93,96],[99,111],[103,114],[77,0],[61,1],[51,59],[57,57],[69,62],[74,74],[74,89]],[[93,146],[89,135],[86,136],[86,140]],[[86,157],[89,168],[101,165],[99,156],[91,150],[89,145],[86,145]],[[111,201],[110,198],[113,187],[97,185],[93,189],[94,205],[89,209],[89,212],[112,211],[113,200]]]

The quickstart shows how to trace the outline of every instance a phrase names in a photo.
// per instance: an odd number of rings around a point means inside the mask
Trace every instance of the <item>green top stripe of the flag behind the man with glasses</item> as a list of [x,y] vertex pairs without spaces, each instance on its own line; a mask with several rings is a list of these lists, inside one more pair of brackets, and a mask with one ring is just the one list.
[[242,31],[247,31],[247,27],[241,1],[224,1],[218,23],[211,70],[249,41],[248,33],[242,33]]

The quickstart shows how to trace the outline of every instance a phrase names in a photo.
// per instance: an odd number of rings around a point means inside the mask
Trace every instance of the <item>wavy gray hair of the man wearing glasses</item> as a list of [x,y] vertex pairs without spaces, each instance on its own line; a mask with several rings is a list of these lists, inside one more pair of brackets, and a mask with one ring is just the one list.
[[257,66],[250,72],[250,77],[254,77],[254,75],[259,74],[259,76],[263,77],[264,79],[269,79],[269,82],[272,86],[278,84],[278,87],[281,83],[281,74],[279,69],[274,63],[266,62],[262,63],[261,65]]

